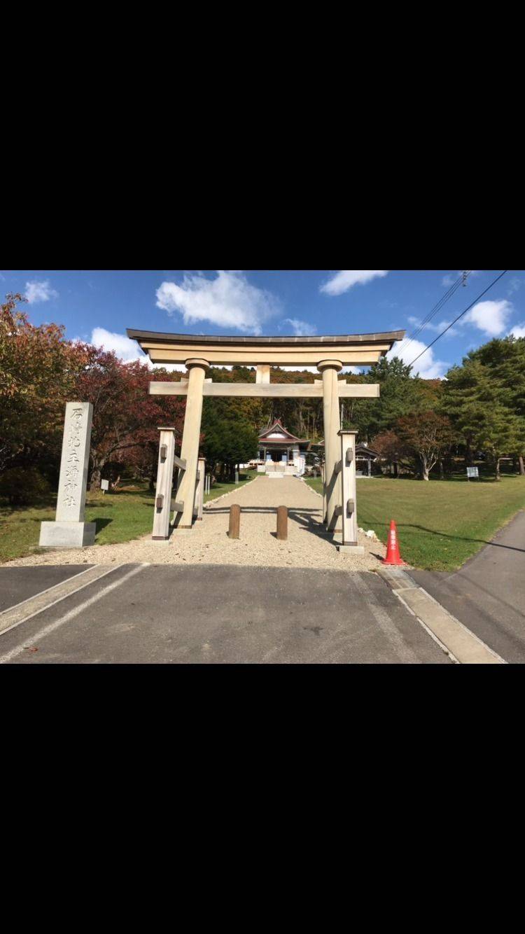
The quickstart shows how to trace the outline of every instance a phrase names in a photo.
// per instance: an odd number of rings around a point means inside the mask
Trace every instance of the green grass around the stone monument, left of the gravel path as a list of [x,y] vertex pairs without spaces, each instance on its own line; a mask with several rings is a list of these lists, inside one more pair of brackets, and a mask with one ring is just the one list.
[[[205,502],[215,500],[248,483],[257,475],[256,471],[243,471],[238,487],[234,483],[218,483],[206,496]],[[114,493],[88,493],[86,498],[86,522],[96,523],[97,545],[114,545],[130,542],[134,538],[151,532],[153,523],[154,493],[148,485],[119,489]],[[50,505],[12,508],[0,506],[0,563],[14,558],[24,558],[38,545],[40,523],[52,522],[55,503]]]

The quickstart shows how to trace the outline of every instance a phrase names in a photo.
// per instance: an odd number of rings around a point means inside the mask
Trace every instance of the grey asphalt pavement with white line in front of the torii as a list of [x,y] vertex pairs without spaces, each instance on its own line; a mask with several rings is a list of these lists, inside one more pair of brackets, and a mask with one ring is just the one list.
[[[27,594],[43,569],[15,570]],[[451,664],[375,574],[131,564],[0,634],[0,662]]]

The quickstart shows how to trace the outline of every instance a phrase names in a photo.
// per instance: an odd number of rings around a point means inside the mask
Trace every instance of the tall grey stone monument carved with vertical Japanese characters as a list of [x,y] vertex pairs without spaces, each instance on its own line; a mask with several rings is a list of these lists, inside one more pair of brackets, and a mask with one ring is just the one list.
[[41,547],[81,548],[94,544],[95,523],[84,522],[92,414],[92,403],[65,406],[56,520],[41,523]]

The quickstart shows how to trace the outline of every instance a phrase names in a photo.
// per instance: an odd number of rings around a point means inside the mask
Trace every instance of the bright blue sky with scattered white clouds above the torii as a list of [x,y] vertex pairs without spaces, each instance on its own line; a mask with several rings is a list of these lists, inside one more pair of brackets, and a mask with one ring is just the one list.
[[[410,363],[502,270],[473,270],[410,344],[393,353]],[[344,334],[419,327],[461,276],[458,270],[0,272],[0,291],[20,291],[35,324],[64,324],[69,338],[140,355],[126,328],[177,333]],[[510,270],[415,365],[443,376],[492,337],[525,336],[525,271]]]

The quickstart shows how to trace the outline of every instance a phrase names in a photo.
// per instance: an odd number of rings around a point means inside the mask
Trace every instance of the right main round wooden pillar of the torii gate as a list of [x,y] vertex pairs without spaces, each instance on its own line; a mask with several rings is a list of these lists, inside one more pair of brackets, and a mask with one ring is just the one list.
[[326,502],[326,528],[328,531],[338,531],[338,480],[339,474],[335,472],[335,465],[340,457],[340,441],[338,432],[341,429],[339,418],[339,387],[337,374],[343,369],[338,360],[323,360],[318,364],[319,373],[322,374],[322,403],[324,414],[324,494]]

